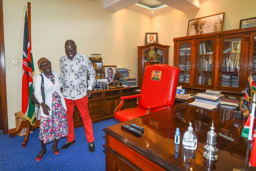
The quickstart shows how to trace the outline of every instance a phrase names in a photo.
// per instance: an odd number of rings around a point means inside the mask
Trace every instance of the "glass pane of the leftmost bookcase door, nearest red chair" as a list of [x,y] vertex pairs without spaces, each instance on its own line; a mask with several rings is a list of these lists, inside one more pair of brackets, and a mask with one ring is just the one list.
[[190,83],[191,43],[179,44],[179,83]]

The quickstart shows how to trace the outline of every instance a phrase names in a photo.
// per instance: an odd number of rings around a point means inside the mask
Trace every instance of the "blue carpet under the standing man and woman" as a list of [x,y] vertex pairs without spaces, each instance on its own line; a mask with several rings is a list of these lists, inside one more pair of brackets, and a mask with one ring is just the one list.
[[88,151],[88,143],[83,127],[75,129],[76,144],[69,149],[60,150],[66,138],[60,139],[59,155],[54,155],[52,143],[46,145],[47,152],[41,161],[35,157],[41,150],[38,139],[39,129],[30,134],[26,148],[22,149],[24,139],[20,136],[9,138],[9,135],[0,135],[0,170],[105,170],[105,132],[107,126],[117,124],[115,119],[108,119],[93,124],[95,147],[93,153]]

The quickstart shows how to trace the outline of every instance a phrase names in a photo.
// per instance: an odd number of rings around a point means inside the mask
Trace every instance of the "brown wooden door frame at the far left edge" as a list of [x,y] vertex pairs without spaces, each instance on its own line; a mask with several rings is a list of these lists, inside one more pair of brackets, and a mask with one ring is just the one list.
[[0,114],[3,118],[4,134],[8,134],[7,93],[5,79],[3,0],[0,0]]

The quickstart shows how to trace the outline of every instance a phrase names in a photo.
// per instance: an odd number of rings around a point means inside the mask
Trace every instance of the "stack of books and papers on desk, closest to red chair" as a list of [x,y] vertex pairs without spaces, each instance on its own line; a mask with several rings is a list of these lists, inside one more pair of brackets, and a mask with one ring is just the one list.
[[205,93],[194,95],[194,102],[190,103],[190,105],[214,109],[220,105],[222,97],[221,91],[206,90]]

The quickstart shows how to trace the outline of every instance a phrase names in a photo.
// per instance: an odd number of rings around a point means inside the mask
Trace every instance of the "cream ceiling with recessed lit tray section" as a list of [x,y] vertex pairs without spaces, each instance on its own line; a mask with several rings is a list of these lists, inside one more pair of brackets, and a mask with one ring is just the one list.
[[[187,12],[200,8],[199,0],[101,0],[104,8],[112,11],[130,9],[141,14],[155,16],[171,9]],[[201,0],[202,1],[202,0]]]

